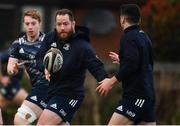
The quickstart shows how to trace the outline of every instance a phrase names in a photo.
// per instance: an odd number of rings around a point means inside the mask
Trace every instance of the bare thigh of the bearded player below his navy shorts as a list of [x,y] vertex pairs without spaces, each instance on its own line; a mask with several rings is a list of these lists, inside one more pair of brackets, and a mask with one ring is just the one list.
[[60,123],[62,123],[62,118],[58,114],[48,109],[44,109],[37,122],[37,125],[58,125]]

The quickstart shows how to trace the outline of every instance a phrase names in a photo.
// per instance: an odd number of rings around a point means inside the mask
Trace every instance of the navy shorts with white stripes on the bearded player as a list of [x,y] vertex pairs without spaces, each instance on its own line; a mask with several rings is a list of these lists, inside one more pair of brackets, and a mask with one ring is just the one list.
[[72,117],[81,106],[83,98],[53,96],[49,99],[46,109],[58,114],[63,122],[71,123]]

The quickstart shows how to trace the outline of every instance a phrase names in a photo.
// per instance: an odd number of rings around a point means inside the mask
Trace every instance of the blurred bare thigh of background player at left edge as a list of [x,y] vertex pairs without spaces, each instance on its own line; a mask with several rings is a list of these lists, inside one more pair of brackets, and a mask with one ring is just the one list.
[[22,102],[26,99],[26,97],[28,96],[28,93],[24,90],[24,89],[20,89],[16,96],[13,99],[13,103],[17,104],[17,105],[21,105]]

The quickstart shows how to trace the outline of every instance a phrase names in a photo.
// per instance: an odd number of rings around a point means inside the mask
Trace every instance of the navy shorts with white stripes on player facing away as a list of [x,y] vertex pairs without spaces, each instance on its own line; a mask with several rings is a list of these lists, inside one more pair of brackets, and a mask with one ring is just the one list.
[[143,98],[123,97],[115,110],[138,124],[141,121],[155,122],[155,101]]

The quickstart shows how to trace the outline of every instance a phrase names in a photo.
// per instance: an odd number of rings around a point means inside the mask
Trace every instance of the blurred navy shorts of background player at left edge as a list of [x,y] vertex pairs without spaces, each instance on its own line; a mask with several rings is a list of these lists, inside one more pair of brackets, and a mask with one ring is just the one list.
[[0,84],[0,94],[7,100],[12,100],[20,90],[20,83],[15,78],[11,78],[11,83],[7,86]]

